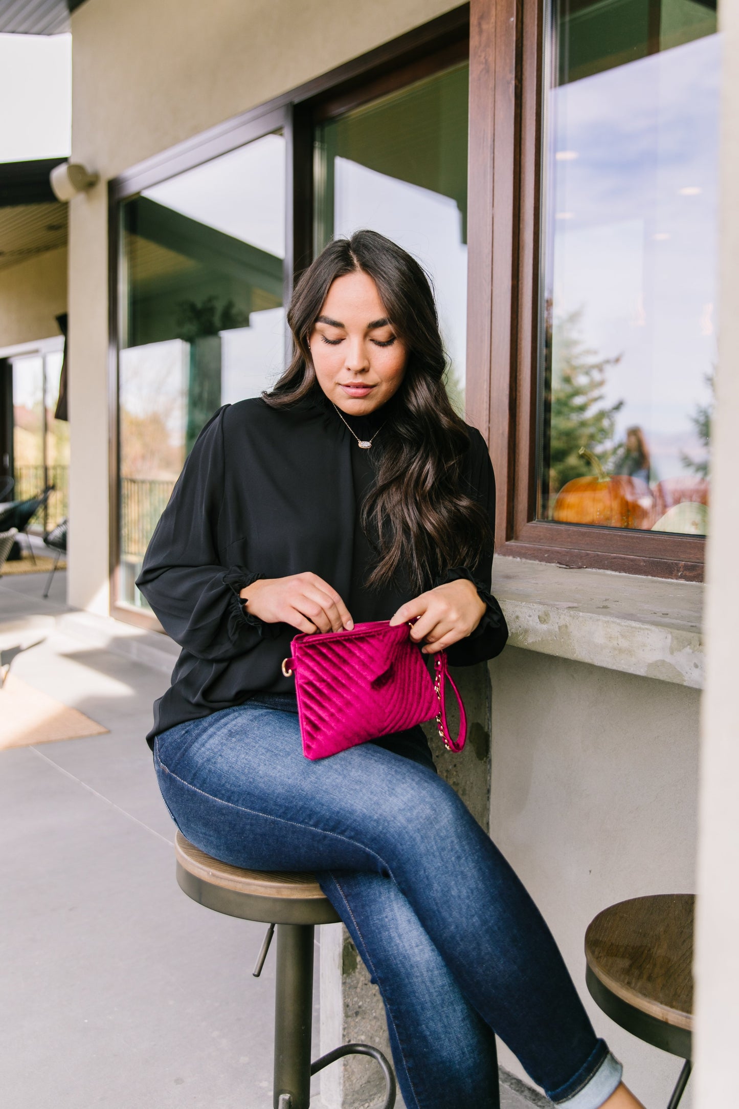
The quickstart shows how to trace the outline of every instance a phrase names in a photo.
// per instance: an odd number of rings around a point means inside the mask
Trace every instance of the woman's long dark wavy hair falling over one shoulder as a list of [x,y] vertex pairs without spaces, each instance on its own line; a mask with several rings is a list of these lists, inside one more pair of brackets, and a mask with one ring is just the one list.
[[447,395],[437,307],[415,258],[376,231],[329,243],[297,283],[287,314],[292,359],[263,396],[283,408],[320,389],[308,346],[314,325],[331,283],[357,271],[373,279],[408,350],[402,384],[389,404],[377,480],[362,506],[361,525],[377,550],[367,584],[387,584],[402,569],[412,587],[428,589],[444,570],[474,566],[492,549],[493,532],[463,488],[469,433]]

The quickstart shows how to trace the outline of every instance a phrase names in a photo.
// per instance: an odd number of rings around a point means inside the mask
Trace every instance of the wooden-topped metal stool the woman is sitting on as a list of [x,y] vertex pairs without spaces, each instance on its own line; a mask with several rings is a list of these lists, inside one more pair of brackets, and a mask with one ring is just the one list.
[[310,1076],[345,1055],[369,1055],[382,1067],[386,1100],[396,1103],[396,1076],[390,1064],[368,1044],[343,1044],[311,1064],[310,1039],[314,993],[314,930],[317,924],[339,920],[312,874],[243,871],[219,863],[193,846],[181,832],[175,836],[179,887],[206,908],[244,920],[269,924],[254,976],[258,978],[277,925],[275,987],[275,1109],[308,1109]]

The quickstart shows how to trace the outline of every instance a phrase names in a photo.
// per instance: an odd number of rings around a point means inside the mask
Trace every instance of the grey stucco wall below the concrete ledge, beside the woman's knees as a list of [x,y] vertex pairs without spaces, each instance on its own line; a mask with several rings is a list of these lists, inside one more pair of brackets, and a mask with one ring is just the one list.
[[[695,889],[700,694],[516,648],[490,669],[491,835],[550,924],[625,1080],[646,1106],[666,1105],[680,1061],[594,1005],[583,943],[607,905]],[[524,1077],[505,1048],[501,1064]]]

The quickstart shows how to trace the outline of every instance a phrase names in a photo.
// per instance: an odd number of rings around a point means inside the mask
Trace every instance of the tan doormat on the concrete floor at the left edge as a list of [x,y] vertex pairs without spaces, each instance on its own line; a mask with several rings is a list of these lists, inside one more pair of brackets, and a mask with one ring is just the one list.
[[0,690],[0,751],[106,733],[106,728],[83,712],[34,690],[14,674],[8,674]]

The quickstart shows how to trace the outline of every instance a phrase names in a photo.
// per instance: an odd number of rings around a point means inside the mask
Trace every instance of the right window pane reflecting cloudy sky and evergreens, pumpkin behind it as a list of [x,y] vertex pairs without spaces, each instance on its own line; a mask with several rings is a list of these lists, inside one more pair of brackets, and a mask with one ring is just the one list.
[[569,0],[551,18],[538,518],[705,535],[715,4]]

